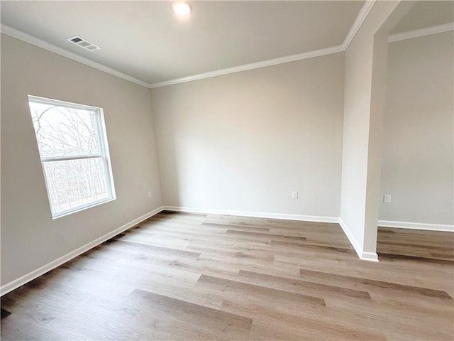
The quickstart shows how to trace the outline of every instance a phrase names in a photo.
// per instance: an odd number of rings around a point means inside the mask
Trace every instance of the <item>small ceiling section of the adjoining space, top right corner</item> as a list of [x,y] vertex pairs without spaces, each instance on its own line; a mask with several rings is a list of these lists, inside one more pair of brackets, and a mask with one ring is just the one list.
[[454,1],[418,1],[390,32],[402,33],[454,21]]

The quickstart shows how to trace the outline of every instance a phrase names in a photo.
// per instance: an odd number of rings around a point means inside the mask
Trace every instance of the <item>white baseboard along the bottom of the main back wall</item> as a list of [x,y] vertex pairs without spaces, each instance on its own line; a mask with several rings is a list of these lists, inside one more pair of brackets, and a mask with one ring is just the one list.
[[265,213],[233,210],[212,210],[208,208],[192,208],[179,206],[164,206],[163,210],[175,212],[200,213],[204,215],[237,215],[239,217],[270,218],[282,220],[299,220],[304,222],[339,222],[338,217],[323,217],[318,215],[287,215],[283,213]]

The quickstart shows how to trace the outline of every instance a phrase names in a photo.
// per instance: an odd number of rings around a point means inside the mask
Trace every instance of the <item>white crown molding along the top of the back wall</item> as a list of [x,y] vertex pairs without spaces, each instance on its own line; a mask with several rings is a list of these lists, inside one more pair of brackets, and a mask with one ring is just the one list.
[[297,55],[287,55],[285,57],[263,60],[257,63],[250,63],[245,65],[238,65],[234,67],[228,67],[222,70],[215,70],[210,72],[200,73],[199,75],[191,75],[187,77],[176,78],[175,80],[166,80],[165,82],[157,82],[150,85],[150,89],[155,87],[167,87],[168,85],[175,85],[184,82],[192,82],[193,80],[203,80],[204,78],[217,77],[221,75],[228,75],[235,72],[248,71],[258,69],[260,67],[267,67],[272,65],[279,65],[289,62],[295,62],[297,60],[304,60],[308,58],[320,57],[322,55],[331,55],[332,53],[343,52],[344,48],[341,45],[331,46],[331,48],[322,48],[321,50],[314,50],[305,53],[299,53]]

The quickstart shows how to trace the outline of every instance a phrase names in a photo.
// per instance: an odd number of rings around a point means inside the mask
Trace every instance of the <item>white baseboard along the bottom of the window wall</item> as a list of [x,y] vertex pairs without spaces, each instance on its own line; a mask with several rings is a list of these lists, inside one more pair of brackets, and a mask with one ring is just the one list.
[[132,220],[131,222],[128,222],[124,224],[121,227],[118,227],[118,229],[114,229],[114,231],[111,231],[107,234],[104,234],[104,236],[99,237],[97,239],[94,239],[94,241],[89,242],[88,244],[85,244],[82,247],[79,247],[75,249],[74,251],[71,251],[64,256],[61,256],[60,258],[55,259],[54,261],[50,261],[50,263],[45,264],[41,266],[40,268],[33,270],[29,272],[26,275],[23,275],[9,283],[6,283],[4,286],[0,287],[0,296],[4,296],[6,293],[9,293],[10,291],[13,291],[14,289],[18,288],[19,286],[23,286],[24,284],[28,283],[29,281],[32,281],[33,279],[45,274],[46,272],[55,269],[57,266],[60,266],[67,261],[70,261],[71,259],[83,254],[84,252],[89,251],[90,249],[93,249],[94,247],[97,247],[99,244],[106,242],[106,240],[111,239],[112,237],[115,237],[117,234],[126,231],[126,229],[130,229],[131,227],[135,226],[139,222],[143,222],[143,220],[148,219],[149,217],[152,217],[153,215],[156,215],[157,213],[162,211],[162,206],[157,207],[155,210],[146,213],[145,215],[138,217],[135,220]]

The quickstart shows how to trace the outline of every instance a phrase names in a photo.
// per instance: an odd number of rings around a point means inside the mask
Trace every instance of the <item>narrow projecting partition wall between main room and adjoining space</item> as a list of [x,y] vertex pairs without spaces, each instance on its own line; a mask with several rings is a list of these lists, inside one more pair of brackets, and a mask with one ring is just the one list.
[[[387,31],[399,1],[377,1],[345,51],[341,225],[362,259],[376,260]],[[388,27],[389,26],[389,27]]]

